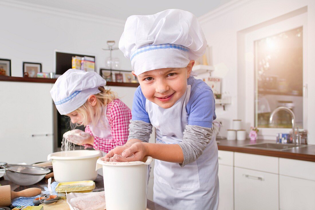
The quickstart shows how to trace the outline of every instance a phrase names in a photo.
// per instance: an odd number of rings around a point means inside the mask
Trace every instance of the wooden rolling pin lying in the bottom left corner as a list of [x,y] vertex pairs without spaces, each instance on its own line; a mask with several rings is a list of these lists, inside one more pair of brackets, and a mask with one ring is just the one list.
[[0,186],[0,206],[10,206],[11,200],[17,197],[33,197],[41,193],[42,190],[35,187],[14,192],[10,185]]

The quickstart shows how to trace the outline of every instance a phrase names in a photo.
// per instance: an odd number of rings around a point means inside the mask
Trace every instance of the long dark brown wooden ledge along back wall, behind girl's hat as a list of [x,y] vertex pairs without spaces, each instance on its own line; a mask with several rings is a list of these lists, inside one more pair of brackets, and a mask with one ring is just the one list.
[[[8,76],[0,76],[0,81],[7,81],[7,82],[55,83],[56,80],[57,80],[57,79],[50,79],[50,78],[31,78],[31,77],[8,77]],[[138,87],[138,86],[139,86],[139,83],[106,82],[106,86]]]

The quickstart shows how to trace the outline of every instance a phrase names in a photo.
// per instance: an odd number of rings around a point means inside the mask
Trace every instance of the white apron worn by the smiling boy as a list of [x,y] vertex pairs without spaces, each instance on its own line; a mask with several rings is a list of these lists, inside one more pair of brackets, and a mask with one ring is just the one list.
[[[146,111],[156,128],[157,143],[175,144],[183,140],[183,131],[188,124],[186,105],[189,97],[190,85],[187,85],[186,93],[171,108],[164,109],[146,100]],[[215,134],[203,154],[184,167],[155,160],[153,200],[169,210],[217,209],[219,179]]]

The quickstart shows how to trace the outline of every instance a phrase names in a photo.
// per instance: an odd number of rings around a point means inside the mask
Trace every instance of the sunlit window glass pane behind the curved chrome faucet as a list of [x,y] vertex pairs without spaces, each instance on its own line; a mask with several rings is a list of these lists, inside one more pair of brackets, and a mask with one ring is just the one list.
[[303,27],[284,31],[254,41],[255,126],[292,128],[291,115],[277,107],[287,107],[295,114],[295,125],[303,128]]

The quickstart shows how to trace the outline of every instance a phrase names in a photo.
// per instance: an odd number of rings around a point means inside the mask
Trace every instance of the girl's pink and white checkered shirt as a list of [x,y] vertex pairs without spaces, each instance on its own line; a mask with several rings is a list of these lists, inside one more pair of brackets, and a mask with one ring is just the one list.
[[[119,99],[107,104],[106,117],[111,126],[111,138],[101,138],[94,136],[95,150],[109,152],[111,149],[124,145],[129,135],[129,120],[131,120],[131,110]],[[93,136],[89,125],[85,127],[85,132]],[[92,147],[90,144],[84,144],[84,149]]]

